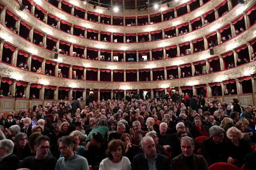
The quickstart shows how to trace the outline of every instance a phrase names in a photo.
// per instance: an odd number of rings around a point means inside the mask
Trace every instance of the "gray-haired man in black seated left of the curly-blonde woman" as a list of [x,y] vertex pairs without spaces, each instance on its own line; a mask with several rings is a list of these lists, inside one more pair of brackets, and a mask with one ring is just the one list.
[[230,156],[229,146],[223,142],[225,130],[220,126],[212,126],[209,129],[210,138],[203,141],[201,152],[208,166],[217,162],[234,163],[234,159]]

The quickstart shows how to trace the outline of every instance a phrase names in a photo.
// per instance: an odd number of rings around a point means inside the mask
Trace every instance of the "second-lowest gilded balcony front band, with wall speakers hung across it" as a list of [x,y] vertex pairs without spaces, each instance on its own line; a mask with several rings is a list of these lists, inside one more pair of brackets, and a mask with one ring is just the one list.
[[[29,41],[24,40],[19,35],[13,33],[8,28],[0,25],[0,35],[7,37],[6,42],[10,43],[14,47],[20,48],[30,54],[37,55],[47,60],[53,59],[53,53],[50,50],[41,48]],[[214,47],[214,55],[210,55],[209,50],[203,50],[198,53],[193,53],[191,55],[185,55],[180,57],[174,57],[164,60],[146,61],[146,62],[107,62],[107,61],[96,61],[79,59],[75,57],[70,57],[67,55],[59,54],[58,61],[61,63],[66,63],[70,65],[91,67],[91,68],[101,68],[101,69],[111,69],[111,70],[124,70],[129,69],[147,69],[147,68],[162,68],[174,65],[181,65],[185,63],[193,63],[200,60],[205,60],[213,56],[221,55],[232,49],[235,49],[241,45],[246,44],[256,37],[256,24],[245,30],[243,33],[234,37],[233,39]]]

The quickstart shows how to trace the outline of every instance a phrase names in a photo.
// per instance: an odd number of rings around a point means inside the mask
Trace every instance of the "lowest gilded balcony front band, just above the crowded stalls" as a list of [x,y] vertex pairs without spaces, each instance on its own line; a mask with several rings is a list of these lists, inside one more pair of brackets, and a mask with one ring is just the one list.
[[82,81],[67,78],[58,78],[52,76],[45,76],[26,70],[21,70],[16,67],[10,67],[5,63],[0,63],[0,76],[15,78],[16,80],[26,81],[30,83],[37,83],[43,85],[63,86],[71,88],[92,88],[92,89],[152,89],[152,88],[168,88],[180,86],[192,86],[207,84],[213,82],[221,82],[228,79],[239,78],[243,76],[250,76],[255,74],[256,62],[250,62],[242,66],[232,69],[219,71],[216,73],[179,78],[162,81],[148,81],[148,82],[97,82],[97,81]]

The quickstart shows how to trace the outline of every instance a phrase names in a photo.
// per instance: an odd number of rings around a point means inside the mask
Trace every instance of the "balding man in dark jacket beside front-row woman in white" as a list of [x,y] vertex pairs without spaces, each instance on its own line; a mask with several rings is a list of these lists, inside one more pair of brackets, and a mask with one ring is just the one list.
[[171,162],[168,157],[156,153],[156,145],[152,137],[146,136],[141,139],[144,153],[133,157],[132,170],[170,170]]

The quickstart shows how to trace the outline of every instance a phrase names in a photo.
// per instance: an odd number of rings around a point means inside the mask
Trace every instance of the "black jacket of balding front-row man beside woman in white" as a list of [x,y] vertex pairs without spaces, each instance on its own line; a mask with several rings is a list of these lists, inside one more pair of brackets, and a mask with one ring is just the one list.
[[[145,153],[139,153],[133,157],[132,170],[148,170],[148,160],[145,158]],[[156,154],[156,169],[158,170],[170,170],[171,162],[168,157]]]

